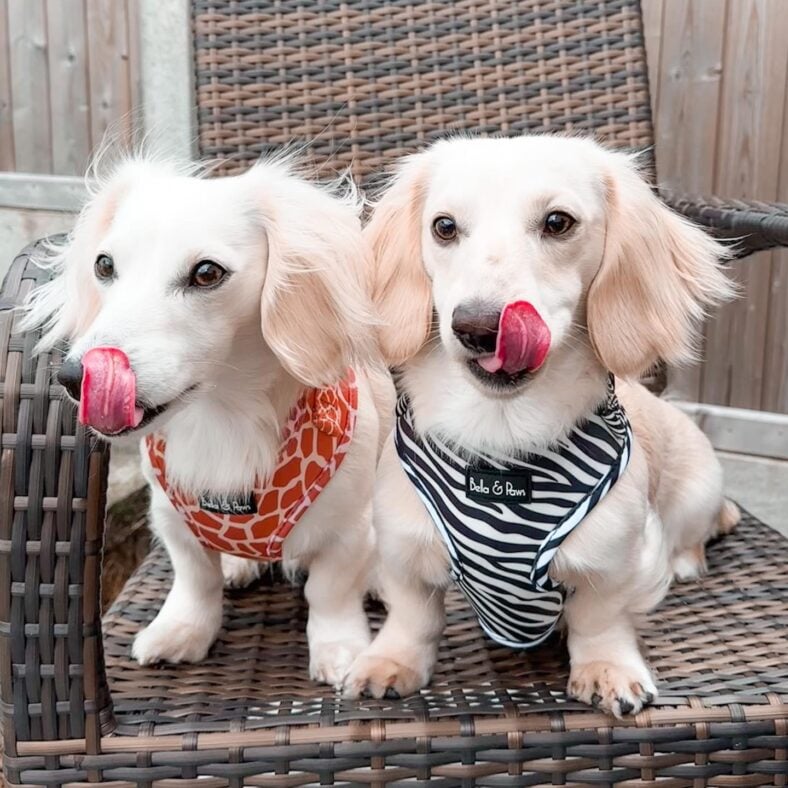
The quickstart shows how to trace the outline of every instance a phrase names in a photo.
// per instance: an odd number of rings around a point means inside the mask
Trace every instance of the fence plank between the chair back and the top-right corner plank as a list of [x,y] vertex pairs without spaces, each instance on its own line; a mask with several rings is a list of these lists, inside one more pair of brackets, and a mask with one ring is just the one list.
[[[664,0],[657,173],[661,183],[690,194],[714,187],[726,5]],[[702,371],[700,363],[669,370],[671,392],[700,399]]]

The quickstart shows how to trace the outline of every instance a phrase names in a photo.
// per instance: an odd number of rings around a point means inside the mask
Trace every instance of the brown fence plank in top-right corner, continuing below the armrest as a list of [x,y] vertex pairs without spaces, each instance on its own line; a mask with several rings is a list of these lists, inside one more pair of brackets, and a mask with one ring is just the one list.
[[[788,70],[784,11],[783,0],[730,4],[715,182],[721,196],[777,196]],[[771,255],[756,255],[732,270],[746,297],[724,307],[709,324],[702,396],[707,402],[759,408]]]

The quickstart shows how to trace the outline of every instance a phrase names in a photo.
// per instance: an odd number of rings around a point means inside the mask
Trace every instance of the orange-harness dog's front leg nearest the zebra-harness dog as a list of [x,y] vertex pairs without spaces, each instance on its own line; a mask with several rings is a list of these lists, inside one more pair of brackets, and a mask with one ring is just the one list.
[[[371,519],[371,506],[363,514]],[[309,675],[340,688],[356,656],[369,644],[364,611],[372,557],[371,525],[353,544],[333,539],[309,564],[304,595],[309,603]]]

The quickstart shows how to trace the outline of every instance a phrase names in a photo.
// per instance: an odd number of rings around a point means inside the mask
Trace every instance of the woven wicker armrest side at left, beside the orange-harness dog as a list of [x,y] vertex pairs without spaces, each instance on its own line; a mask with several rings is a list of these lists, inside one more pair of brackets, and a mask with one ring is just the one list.
[[0,698],[14,784],[35,742],[80,739],[98,752],[113,724],[100,614],[109,451],[54,383],[61,354],[36,355],[40,332],[15,332],[15,307],[49,277],[32,259],[40,243],[0,294]]

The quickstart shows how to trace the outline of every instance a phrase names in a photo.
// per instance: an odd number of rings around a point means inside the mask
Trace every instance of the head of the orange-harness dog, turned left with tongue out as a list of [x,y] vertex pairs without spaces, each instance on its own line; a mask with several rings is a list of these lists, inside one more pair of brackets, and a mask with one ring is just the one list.
[[[248,365],[304,386],[366,355],[370,310],[354,200],[282,163],[207,179],[132,160],[106,179],[31,299],[42,347],[70,344],[60,379],[107,435],[161,424]],[[238,375],[235,374],[237,384]]]

